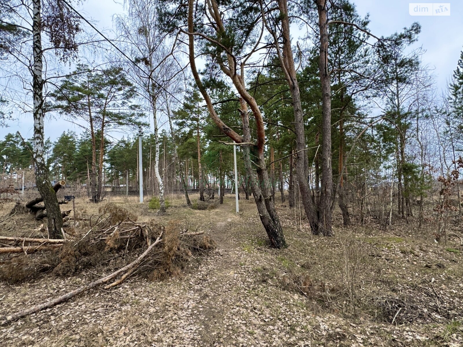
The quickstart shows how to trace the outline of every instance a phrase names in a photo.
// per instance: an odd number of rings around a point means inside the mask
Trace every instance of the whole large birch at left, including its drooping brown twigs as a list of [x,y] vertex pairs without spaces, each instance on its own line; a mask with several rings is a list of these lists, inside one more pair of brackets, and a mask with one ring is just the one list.
[[[62,237],[63,218],[44,158],[44,87],[49,81],[48,78],[44,78],[44,56],[52,51],[61,62],[73,59],[79,46],[76,36],[81,32],[80,20],[62,0],[2,1],[1,9],[2,12],[9,12],[12,19],[6,19],[2,25],[24,32],[27,38],[11,46],[7,55],[13,64],[19,68],[26,68],[30,73],[30,87],[26,89],[31,91],[32,99],[32,144],[36,184],[44,199],[49,235],[52,238]],[[42,43],[43,33],[47,38],[45,47]]]

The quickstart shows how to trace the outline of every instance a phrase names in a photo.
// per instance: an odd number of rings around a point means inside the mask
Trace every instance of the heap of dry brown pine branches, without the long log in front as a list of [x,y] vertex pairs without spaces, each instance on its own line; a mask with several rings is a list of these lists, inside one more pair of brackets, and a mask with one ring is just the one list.
[[100,213],[96,221],[90,220],[90,229],[66,239],[0,236],[0,281],[21,283],[44,273],[69,276],[96,266],[103,267],[102,272],[113,271],[147,249],[120,282],[136,273],[151,280],[165,279],[180,274],[194,253],[215,247],[204,232],[190,232],[186,222],[138,223],[135,215],[115,204],[107,204]]

